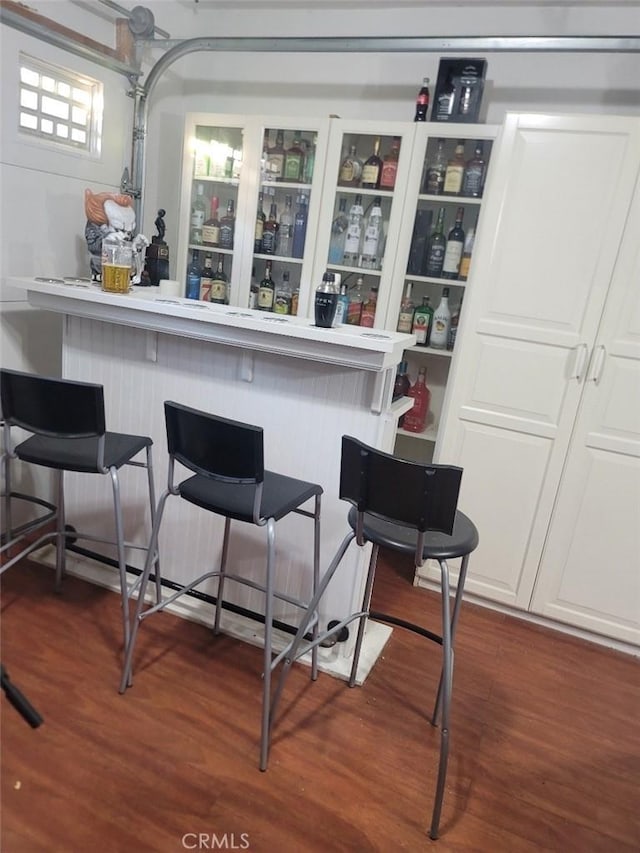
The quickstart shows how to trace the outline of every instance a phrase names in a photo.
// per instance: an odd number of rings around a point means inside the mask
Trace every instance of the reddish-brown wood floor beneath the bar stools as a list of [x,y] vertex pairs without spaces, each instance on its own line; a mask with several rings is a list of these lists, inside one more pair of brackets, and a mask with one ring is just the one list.
[[[410,577],[383,560],[374,604],[437,626]],[[45,718],[2,703],[5,853],[640,850],[637,658],[466,604],[431,842],[432,644],[395,630],[353,690],[296,666],[260,773],[258,649],[164,614],[120,696],[113,593],[70,578],[56,596],[26,562],[2,586],[3,663]]]

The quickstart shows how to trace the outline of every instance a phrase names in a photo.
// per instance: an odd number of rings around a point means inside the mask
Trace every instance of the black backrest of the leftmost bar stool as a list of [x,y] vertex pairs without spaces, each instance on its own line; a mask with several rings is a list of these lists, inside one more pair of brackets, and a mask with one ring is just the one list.
[[105,434],[102,385],[0,369],[2,417],[28,432],[54,438]]

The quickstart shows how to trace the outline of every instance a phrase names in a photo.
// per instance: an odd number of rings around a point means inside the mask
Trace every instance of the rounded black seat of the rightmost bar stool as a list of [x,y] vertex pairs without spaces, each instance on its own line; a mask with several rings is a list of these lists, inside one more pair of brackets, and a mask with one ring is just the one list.
[[[358,522],[358,510],[351,507],[348,521],[353,530]],[[362,529],[365,539],[375,542],[383,548],[391,548],[405,554],[414,554],[418,539],[418,533],[413,527],[405,527],[394,521],[387,521],[371,515],[363,514]],[[449,536],[439,530],[428,530],[425,533],[422,548],[423,560],[452,560],[455,557],[464,557],[478,547],[478,530],[475,524],[460,510],[456,511],[453,522],[453,531]]]

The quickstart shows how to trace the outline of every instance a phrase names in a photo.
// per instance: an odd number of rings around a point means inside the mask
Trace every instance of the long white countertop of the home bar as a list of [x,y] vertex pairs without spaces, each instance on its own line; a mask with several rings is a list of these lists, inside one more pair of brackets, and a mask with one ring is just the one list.
[[198,338],[361,370],[395,367],[415,343],[413,335],[338,326],[321,329],[302,317],[252,311],[191,299],[162,297],[156,287],[107,293],[99,284],[8,278],[31,305],[62,314]]

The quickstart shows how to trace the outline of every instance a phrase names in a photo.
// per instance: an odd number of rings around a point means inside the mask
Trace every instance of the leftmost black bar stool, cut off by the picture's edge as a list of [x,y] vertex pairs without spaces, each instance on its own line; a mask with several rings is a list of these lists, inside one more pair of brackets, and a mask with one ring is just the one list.
[[[6,532],[3,536],[2,553],[13,553],[2,564],[4,572],[18,560],[54,541],[56,545],[56,589],[60,589],[65,573],[66,541],[74,539],[114,544],[118,554],[120,594],[122,599],[122,625],[125,648],[129,642],[129,600],[139,585],[139,578],[131,588],[127,583],[125,548],[146,550],[144,545],[127,542],[124,538],[124,523],[120,500],[118,471],[123,465],[145,468],[149,488],[151,521],[155,515],[155,491],[153,484],[152,441],[148,436],[107,432],[104,411],[104,389],[102,385],[74,382],[23,373],[16,370],[0,370],[0,399],[4,430],[2,469],[4,479],[3,508]],[[24,441],[16,443],[12,430],[19,428],[31,433]],[[145,451],[145,461],[134,461],[134,457]],[[40,465],[55,471],[57,503],[52,504],[37,496],[15,492],[11,487],[11,460],[20,459],[32,465]],[[70,534],[65,527],[64,472],[76,471],[88,474],[108,474],[113,491],[115,516],[115,542],[93,536],[82,531]],[[12,502],[28,501],[43,507],[46,512],[32,522],[16,527],[12,525]],[[55,530],[32,537],[45,526],[55,522]],[[154,560],[157,564],[157,557]],[[160,573],[157,572],[157,594],[160,595]]]

